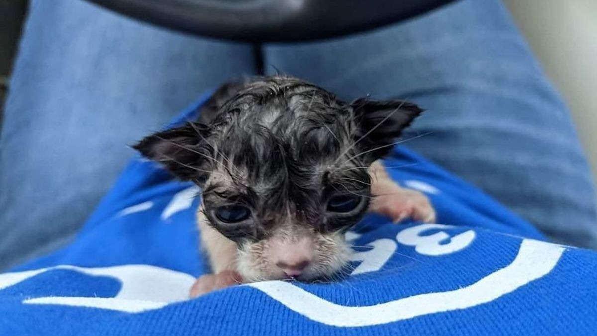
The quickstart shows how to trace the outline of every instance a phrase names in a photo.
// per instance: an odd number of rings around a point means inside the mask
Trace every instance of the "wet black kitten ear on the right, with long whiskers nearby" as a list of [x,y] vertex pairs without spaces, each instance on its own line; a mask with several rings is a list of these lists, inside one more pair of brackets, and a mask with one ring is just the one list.
[[[402,100],[371,100],[360,98],[351,103],[355,121],[359,127],[359,145],[364,151],[371,151],[372,160],[388,154],[396,141],[418,117],[423,109],[414,103]],[[379,149],[375,149],[381,147]]]

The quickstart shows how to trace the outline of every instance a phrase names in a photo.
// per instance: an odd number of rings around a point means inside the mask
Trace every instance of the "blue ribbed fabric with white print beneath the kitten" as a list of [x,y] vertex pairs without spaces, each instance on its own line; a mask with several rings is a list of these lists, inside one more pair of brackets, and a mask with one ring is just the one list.
[[0,335],[597,334],[595,252],[545,242],[404,147],[386,166],[429,196],[440,224],[368,215],[348,235],[346,279],[252,283],[187,300],[208,272],[198,189],[136,157],[72,244],[0,274]]

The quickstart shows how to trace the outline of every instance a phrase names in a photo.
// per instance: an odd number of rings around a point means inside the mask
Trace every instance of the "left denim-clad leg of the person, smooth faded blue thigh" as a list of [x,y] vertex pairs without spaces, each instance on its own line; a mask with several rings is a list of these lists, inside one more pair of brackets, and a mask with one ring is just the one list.
[[202,91],[254,74],[205,41],[81,0],[34,0],[0,138],[0,269],[63,245],[133,155]]

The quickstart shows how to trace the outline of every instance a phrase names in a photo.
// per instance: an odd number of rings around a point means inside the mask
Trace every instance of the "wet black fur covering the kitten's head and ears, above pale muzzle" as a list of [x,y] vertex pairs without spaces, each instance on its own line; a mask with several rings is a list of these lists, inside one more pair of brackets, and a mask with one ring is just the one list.
[[[370,176],[357,167],[386,155],[421,112],[399,100],[346,103],[297,78],[260,77],[224,85],[199,120],[134,147],[203,188],[211,225],[236,242],[263,239],[288,221],[322,232],[344,230],[362,218],[370,198]],[[213,172],[225,177],[208,183]],[[334,215],[326,204],[335,194],[358,194],[363,201],[353,213]],[[253,215],[220,223],[213,209],[231,203],[248,206]]]

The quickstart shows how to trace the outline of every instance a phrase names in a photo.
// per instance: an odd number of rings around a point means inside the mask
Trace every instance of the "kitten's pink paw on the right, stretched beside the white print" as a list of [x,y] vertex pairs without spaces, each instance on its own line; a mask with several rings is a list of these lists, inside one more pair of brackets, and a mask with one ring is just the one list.
[[427,196],[417,190],[402,188],[393,181],[376,185],[369,210],[386,215],[395,223],[409,217],[423,222],[434,222],[436,218]]

